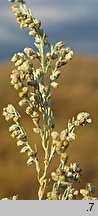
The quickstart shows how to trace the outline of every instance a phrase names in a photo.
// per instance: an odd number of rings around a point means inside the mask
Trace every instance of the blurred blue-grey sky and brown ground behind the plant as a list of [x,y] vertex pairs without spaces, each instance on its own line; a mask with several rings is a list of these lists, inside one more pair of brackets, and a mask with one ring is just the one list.
[[[68,153],[70,161],[79,161],[83,169],[79,187],[91,182],[98,196],[98,1],[27,0],[27,3],[34,16],[42,20],[49,40],[52,43],[63,40],[74,50],[74,59],[62,69],[61,85],[54,91],[52,108],[59,132],[77,113],[91,114],[92,124],[77,130],[78,138],[71,143]],[[0,1],[0,198],[19,194],[20,199],[37,199],[35,169],[26,166],[27,157],[20,155],[15,140],[10,138],[9,123],[2,117],[2,109],[8,103],[16,106],[31,145],[39,145],[42,160],[40,140],[33,134],[31,119],[18,107],[18,93],[10,85],[14,67],[10,58],[24,47],[33,46],[27,30],[21,31],[16,23],[10,5],[7,0]],[[54,160],[51,169],[56,167]]]

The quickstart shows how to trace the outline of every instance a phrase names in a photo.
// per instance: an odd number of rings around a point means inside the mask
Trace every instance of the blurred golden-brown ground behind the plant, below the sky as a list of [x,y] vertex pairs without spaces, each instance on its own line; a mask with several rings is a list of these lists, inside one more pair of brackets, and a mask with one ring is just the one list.
[[[18,93],[10,85],[9,75],[13,66],[10,63],[0,64],[0,198],[19,194],[22,199],[37,198],[35,170],[25,164],[27,157],[20,155],[15,141],[8,132],[9,123],[2,117],[2,108],[12,103],[18,107]],[[70,117],[81,111],[87,111],[92,116],[92,124],[77,130],[78,139],[71,143],[68,150],[70,161],[81,163],[83,176],[81,187],[91,182],[97,187],[98,196],[98,58],[75,56],[74,60],[62,70],[60,86],[54,91],[53,110],[56,119],[56,129],[65,128]],[[34,136],[32,122],[26,114],[22,114],[23,126],[28,131],[29,141],[39,144]],[[32,137],[31,137],[32,134]],[[39,144],[40,145],[40,144]],[[40,158],[42,150],[39,146]],[[56,167],[54,161],[52,169]]]

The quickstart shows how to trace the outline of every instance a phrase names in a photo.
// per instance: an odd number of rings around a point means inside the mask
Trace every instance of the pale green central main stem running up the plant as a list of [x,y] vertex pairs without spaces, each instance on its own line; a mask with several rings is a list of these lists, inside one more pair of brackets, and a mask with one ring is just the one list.
[[[44,40],[45,40],[45,35],[43,35],[42,40],[41,40],[41,44],[40,44],[40,54],[41,54],[41,66],[42,66],[42,70],[43,70],[43,75],[44,75],[44,79],[43,79],[43,85],[45,87],[45,73],[46,73],[46,65],[45,65],[45,54],[44,54]],[[43,97],[42,97],[43,98]],[[48,119],[48,111],[47,111],[47,106],[45,105],[46,102],[46,97],[43,98],[43,104],[44,104],[44,114],[47,114],[47,119]],[[45,116],[44,115],[44,116]],[[50,129],[48,126],[48,122],[43,118],[44,120],[44,127],[43,127],[43,136],[42,136],[42,146],[45,152],[44,155],[44,171],[43,171],[43,175],[40,178],[40,187],[39,187],[39,191],[40,193],[38,193],[39,195],[39,200],[43,199],[43,196],[45,194],[45,189],[46,189],[46,181],[47,181],[47,169],[49,166],[49,136],[50,136]]]

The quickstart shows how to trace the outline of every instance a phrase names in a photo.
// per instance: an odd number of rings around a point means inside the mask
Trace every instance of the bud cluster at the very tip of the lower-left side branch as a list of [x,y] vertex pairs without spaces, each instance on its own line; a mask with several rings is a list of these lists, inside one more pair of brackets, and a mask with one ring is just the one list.
[[3,108],[3,116],[6,121],[13,120],[14,122],[17,122],[20,118],[19,113],[11,104],[9,104],[6,108]]

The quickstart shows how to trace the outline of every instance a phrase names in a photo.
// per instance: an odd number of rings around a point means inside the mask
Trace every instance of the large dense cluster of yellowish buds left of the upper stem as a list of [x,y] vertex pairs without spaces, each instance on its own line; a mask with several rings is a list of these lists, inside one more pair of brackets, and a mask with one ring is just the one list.
[[37,79],[41,78],[42,69],[38,68],[34,70],[33,62],[31,60],[37,58],[38,54],[34,53],[31,48],[25,48],[24,52],[29,59],[26,59],[23,53],[14,54],[11,59],[11,61],[15,63],[16,67],[11,74],[11,84],[15,89],[20,89],[22,86],[27,85],[38,88]]

